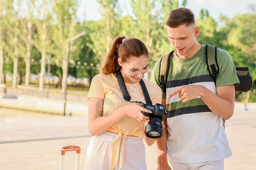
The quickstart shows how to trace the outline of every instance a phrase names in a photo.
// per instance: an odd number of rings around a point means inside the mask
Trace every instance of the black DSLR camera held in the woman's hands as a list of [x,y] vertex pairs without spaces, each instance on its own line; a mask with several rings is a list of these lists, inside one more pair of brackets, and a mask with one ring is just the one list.
[[[142,103],[142,102],[139,102]],[[152,113],[142,112],[144,116],[148,116],[150,121],[145,128],[145,135],[148,138],[160,138],[163,135],[162,121],[167,117],[169,111],[164,109],[162,104],[156,103],[155,105],[144,104],[142,107],[150,110]]]

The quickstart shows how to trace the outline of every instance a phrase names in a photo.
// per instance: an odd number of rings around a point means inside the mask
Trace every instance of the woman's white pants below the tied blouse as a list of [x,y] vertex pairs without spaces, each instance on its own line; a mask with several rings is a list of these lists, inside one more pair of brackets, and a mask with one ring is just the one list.
[[[117,134],[105,131],[90,139],[87,149],[84,170],[110,170],[110,158],[112,154],[112,143]],[[122,137],[121,137],[122,141]],[[120,146],[121,147],[121,142]],[[146,170],[146,154],[143,139],[138,137],[126,137],[125,162],[122,170]],[[119,169],[119,159],[115,170]]]

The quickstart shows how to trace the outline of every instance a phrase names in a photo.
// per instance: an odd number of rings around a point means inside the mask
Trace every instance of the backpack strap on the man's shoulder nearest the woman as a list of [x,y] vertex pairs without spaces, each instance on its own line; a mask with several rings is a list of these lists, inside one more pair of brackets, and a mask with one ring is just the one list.
[[170,68],[170,59],[171,59],[172,53],[174,53],[174,51],[165,54],[160,60],[159,83],[160,83],[160,87],[162,88],[162,91],[166,91],[166,83],[167,83],[167,77],[168,77],[168,72]]

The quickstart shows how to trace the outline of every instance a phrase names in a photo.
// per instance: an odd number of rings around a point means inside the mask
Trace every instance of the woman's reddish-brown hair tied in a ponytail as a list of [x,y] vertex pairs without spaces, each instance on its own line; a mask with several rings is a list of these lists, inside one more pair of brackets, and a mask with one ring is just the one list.
[[109,49],[109,53],[101,63],[100,73],[107,75],[119,70],[121,66],[118,64],[118,58],[121,58],[122,62],[127,62],[127,59],[131,56],[140,57],[142,55],[148,57],[148,50],[141,40],[135,38],[126,39],[125,36],[116,37]]

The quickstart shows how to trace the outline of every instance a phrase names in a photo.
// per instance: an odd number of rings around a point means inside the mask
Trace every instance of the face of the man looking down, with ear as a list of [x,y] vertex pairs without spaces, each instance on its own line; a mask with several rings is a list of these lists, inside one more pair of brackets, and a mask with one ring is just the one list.
[[189,58],[196,53],[195,45],[198,43],[196,37],[199,36],[199,27],[195,24],[182,24],[176,28],[167,26],[167,32],[178,57]]

